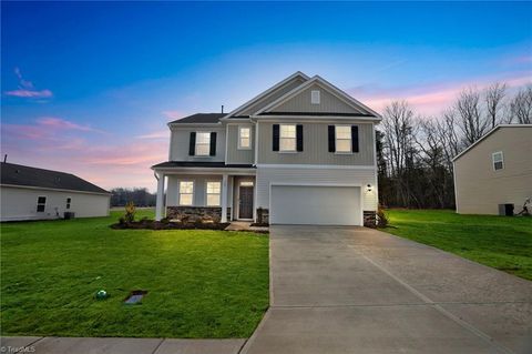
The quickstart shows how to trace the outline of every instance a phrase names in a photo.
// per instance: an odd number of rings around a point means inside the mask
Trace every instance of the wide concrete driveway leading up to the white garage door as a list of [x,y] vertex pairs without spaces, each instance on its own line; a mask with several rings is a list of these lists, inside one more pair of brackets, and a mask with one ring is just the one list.
[[532,282],[364,227],[273,226],[243,353],[532,353]]

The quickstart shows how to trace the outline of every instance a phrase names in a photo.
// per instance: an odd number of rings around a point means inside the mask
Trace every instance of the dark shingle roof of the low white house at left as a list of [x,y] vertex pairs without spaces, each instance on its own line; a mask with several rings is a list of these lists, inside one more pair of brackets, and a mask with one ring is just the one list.
[[24,185],[45,189],[59,189],[92,193],[109,193],[71,173],[24,166],[14,163],[1,163],[1,184]]

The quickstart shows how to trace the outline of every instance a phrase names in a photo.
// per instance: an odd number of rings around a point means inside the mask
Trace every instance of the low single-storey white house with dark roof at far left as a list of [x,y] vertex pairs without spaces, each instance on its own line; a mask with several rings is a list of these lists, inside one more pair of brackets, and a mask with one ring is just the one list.
[[73,174],[1,163],[1,221],[106,216],[111,194]]

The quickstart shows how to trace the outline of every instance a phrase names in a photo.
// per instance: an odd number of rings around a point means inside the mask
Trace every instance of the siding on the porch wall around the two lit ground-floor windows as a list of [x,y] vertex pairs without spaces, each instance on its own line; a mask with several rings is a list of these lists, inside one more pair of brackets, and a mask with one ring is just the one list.
[[[193,204],[191,206],[207,206],[207,182],[222,182],[222,175],[168,175],[166,186],[166,206],[180,205],[180,181],[193,181],[194,182],[194,196]],[[228,183],[229,184],[229,183]],[[231,193],[229,193],[231,194]],[[222,199],[221,199],[222,201]]]

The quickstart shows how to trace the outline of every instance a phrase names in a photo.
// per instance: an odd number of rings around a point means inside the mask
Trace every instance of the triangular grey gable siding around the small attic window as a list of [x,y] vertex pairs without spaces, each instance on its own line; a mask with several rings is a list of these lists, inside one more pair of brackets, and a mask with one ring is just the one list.
[[[319,91],[320,102],[319,104],[311,104],[310,94],[311,91],[316,90]],[[276,107],[272,112],[361,113],[316,83]]]

